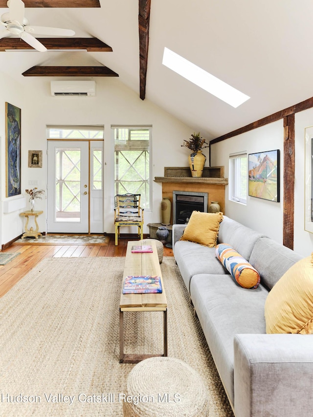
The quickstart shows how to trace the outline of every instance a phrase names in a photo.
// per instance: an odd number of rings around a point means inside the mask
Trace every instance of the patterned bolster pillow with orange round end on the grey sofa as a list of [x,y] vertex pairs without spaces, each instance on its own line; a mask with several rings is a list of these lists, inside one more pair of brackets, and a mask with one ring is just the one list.
[[258,271],[230,245],[218,244],[215,256],[243,288],[257,288],[260,284]]

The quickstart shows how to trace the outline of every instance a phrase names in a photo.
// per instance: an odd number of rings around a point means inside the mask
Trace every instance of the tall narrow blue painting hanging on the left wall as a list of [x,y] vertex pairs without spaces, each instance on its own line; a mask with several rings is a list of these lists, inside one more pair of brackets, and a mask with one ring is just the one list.
[[21,194],[21,109],[5,103],[6,197]]

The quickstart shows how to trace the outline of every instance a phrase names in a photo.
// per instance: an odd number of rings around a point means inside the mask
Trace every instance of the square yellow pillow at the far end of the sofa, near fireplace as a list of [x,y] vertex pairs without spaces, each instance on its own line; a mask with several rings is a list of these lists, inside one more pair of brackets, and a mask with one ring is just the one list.
[[222,220],[222,212],[202,213],[200,211],[193,211],[180,240],[214,247],[216,246]]

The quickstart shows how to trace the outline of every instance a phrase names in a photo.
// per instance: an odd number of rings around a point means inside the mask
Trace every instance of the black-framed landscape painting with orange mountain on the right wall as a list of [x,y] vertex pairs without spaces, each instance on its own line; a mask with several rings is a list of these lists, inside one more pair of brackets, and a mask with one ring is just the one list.
[[249,154],[249,196],[279,202],[279,149]]

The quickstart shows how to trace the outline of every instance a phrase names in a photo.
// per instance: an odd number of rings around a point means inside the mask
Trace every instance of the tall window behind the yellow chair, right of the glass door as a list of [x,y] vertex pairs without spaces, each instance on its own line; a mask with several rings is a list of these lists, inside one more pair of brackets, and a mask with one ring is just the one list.
[[115,194],[141,194],[141,206],[151,207],[151,127],[113,127]]

